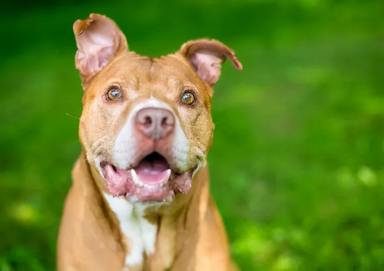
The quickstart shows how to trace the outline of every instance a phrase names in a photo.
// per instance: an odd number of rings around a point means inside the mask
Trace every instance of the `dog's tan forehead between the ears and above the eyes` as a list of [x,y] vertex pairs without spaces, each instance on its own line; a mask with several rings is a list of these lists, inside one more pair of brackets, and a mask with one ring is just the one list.
[[115,85],[127,91],[129,100],[136,101],[148,98],[175,101],[182,92],[195,90],[200,101],[210,107],[206,84],[189,62],[177,55],[151,58],[127,52],[115,57],[85,88],[85,99],[100,96]]

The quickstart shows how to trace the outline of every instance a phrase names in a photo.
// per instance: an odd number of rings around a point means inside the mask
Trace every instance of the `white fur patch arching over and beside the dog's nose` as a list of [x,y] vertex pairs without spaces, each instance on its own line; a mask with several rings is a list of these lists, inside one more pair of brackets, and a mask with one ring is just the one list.
[[180,121],[175,115],[172,108],[159,100],[149,99],[137,104],[129,114],[126,124],[122,127],[114,144],[114,162],[118,168],[126,168],[129,164],[134,163],[137,153],[140,152],[136,148],[136,140],[134,137],[134,117],[137,112],[144,108],[162,108],[167,109],[175,117],[175,139],[172,145],[172,156],[176,165],[180,170],[187,170],[187,160],[189,152],[189,141],[185,137],[184,131],[180,126]]

